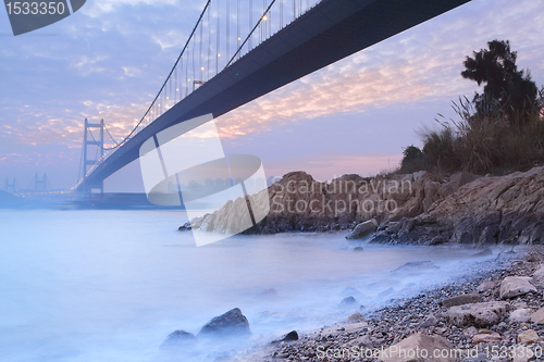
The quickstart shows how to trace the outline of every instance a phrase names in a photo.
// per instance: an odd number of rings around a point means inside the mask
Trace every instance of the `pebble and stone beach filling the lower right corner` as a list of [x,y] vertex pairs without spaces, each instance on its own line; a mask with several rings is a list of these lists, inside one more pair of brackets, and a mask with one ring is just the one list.
[[233,361],[544,361],[543,292],[544,248],[505,249],[457,282]]

